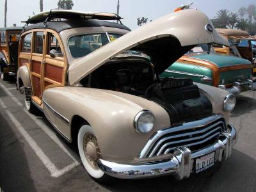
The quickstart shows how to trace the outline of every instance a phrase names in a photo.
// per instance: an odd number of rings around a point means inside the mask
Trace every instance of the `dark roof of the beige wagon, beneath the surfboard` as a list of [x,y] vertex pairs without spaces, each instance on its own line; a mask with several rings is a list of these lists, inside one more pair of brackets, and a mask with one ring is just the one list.
[[[60,33],[60,31],[71,29],[71,28],[84,28],[84,27],[109,27],[109,28],[119,28],[131,31],[131,29],[127,28],[123,24],[117,24],[116,22],[108,22],[105,20],[61,20],[61,21],[49,21],[46,22],[47,29],[52,29]],[[45,28],[44,22],[40,22],[37,24],[32,24],[25,28],[24,31],[28,31],[30,29],[38,29]],[[23,32],[24,32],[23,31]]]

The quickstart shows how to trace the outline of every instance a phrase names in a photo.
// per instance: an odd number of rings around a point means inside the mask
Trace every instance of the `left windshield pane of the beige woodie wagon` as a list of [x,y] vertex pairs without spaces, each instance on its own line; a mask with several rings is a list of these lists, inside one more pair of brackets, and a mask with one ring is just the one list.
[[72,36],[68,40],[70,53],[74,58],[81,58],[109,43],[106,33]]

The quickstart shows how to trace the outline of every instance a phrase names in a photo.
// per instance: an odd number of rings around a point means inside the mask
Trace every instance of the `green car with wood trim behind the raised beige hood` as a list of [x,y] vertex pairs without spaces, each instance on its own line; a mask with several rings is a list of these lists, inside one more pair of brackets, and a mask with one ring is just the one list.
[[208,84],[233,94],[252,91],[252,63],[235,56],[217,54],[213,48],[198,45],[168,67],[161,77],[187,77],[196,83]]

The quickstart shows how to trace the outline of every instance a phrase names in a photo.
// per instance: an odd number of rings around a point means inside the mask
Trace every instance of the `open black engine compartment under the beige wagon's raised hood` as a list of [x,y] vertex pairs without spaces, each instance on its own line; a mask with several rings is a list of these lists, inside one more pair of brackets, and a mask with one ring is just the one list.
[[162,106],[172,124],[212,114],[212,104],[187,78],[159,78],[145,58],[114,59],[85,77],[86,87],[129,93]]

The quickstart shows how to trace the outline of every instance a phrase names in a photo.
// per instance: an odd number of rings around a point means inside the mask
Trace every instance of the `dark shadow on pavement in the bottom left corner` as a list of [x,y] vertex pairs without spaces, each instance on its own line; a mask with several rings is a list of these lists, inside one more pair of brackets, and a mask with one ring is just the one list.
[[23,144],[0,114],[0,188],[4,191],[36,191]]

